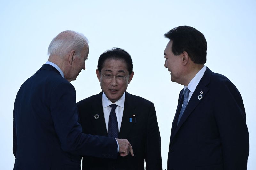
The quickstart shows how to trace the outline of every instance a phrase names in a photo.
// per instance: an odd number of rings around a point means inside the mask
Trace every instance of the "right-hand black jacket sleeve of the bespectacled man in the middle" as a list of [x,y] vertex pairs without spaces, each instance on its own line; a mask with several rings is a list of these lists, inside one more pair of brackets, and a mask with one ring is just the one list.
[[161,137],[153,103],[149,110],[146,140],[146,170],[162,170]]

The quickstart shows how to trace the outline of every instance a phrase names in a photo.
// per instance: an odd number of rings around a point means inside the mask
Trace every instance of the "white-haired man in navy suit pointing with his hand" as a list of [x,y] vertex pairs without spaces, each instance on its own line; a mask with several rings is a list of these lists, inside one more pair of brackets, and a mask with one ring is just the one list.
[[63,31],[50,43],[48,61],[21,85],[13,110],[15,170],[80,170],[79,155],[133,156],[128,140],[84,134],[77,122],[69,82],[85,69],[88,53],[83,34]]

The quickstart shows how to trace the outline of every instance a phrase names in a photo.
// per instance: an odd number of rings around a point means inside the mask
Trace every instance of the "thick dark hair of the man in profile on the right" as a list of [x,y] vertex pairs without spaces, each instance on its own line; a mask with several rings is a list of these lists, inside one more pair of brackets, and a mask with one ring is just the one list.
[[191,26],[178,26],[168,31],[164,36],[172,40],[174,55],[180,55],[186,51],[194,63],[206,63],[207,42],[204,35],[197,29]]

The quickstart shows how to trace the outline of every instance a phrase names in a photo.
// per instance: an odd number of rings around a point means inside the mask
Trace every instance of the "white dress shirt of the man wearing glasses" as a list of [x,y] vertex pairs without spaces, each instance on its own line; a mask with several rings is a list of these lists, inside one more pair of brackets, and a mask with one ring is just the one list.
[[109,115],[111,111],[111,107],[109,105],[112,105],[112,104],[117,105],[115,112],[116,112],[116,118],[118,123],[118,132],[120,132],[120,127],[121,127],[121,122],[122,122],[123,112],[124,112],[124,100],[125,100],[125,93],[115,103],[112,103],[104,93],[102,94],[102,106],[103,106],[103,113],[104,113],[107,132],[108,132],[108,120],[109,120]]

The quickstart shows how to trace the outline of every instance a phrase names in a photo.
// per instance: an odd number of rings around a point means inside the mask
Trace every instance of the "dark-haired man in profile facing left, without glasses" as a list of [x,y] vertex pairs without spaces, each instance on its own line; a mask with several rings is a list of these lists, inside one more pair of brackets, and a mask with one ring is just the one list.
[[206,63],[204,35],[179,26],[169,38],[164,66],[184,85],[172,122],[168,170],[246,170],[249,133],[236,86]]

